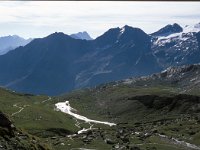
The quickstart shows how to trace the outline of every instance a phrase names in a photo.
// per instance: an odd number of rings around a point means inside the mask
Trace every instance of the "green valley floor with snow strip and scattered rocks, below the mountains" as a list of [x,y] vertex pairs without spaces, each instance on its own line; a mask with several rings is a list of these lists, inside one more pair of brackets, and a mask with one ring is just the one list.
[[0,89],[0,110],[48,149],[200,150],[199,99],[167,86],[107,85],[60,97]]

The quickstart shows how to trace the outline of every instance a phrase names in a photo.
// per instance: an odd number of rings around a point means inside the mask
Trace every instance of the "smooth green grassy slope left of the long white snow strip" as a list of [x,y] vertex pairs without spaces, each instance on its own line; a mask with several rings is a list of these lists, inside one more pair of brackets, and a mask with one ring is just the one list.
[[[69,133],[76,131],[73,118],[55,111],[55,106],[45,101],[48,99],[48,96],[18,94],[0,89],[0,110],[10,116],[16,126],[33,134],[45,134],[43,131],[50,129],[65,129]],[[16,113],[21,108],[23,110]]]

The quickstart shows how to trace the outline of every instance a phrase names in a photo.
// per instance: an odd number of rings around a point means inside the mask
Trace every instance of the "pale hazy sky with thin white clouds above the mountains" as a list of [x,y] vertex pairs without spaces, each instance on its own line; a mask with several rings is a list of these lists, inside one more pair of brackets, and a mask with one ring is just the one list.
[[125,24],[151,33],[200,22],[200,2],[0,1],[0,36],[44,37],[87,31],[93,38]]

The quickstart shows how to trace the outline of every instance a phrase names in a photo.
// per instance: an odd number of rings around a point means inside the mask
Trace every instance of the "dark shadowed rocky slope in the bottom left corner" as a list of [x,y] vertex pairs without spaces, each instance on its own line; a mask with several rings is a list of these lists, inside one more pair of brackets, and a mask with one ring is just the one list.
[[19,130],[8,116],[0,112],[0,149],[1,150],[49,150],[48,146],[34,136]]

